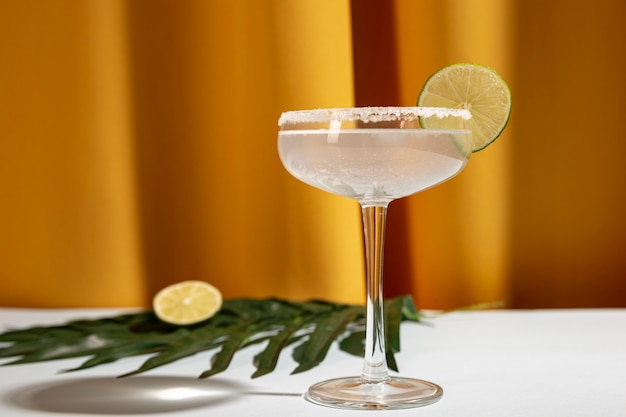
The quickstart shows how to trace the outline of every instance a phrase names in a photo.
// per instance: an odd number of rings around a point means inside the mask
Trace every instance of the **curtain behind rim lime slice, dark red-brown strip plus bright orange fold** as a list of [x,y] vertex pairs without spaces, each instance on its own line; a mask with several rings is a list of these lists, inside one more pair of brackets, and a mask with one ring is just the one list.
[[[359,105],[414,106],[439,68],[476,62],[511,77],[511,2],[354,0]],[[372,29],[375,28],[375,29]],[[385,253],[388,295],[424,308],[508,301],[510,131],[457,178],[392,202]]]

